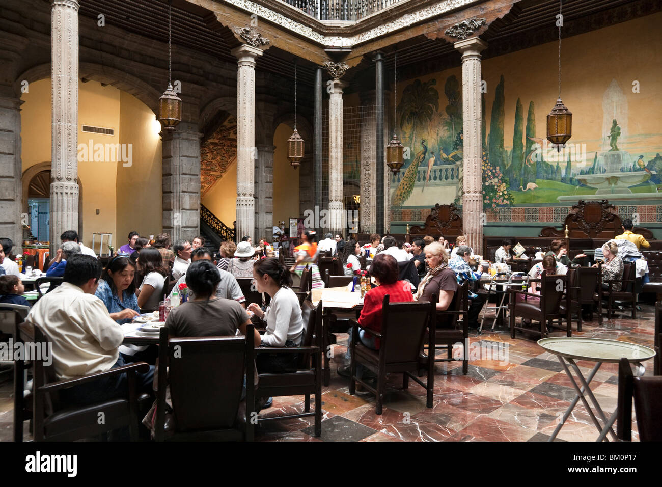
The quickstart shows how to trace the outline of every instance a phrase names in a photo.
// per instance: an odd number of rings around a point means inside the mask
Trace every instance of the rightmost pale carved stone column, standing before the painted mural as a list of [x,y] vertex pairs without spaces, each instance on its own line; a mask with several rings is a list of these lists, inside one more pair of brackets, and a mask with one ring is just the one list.
[[483,198],[481,194],[481,51],[483,40],[472,37],[455,42],[462,53],[462,120],[463,120],[463,231],[471,248],[483,248]]

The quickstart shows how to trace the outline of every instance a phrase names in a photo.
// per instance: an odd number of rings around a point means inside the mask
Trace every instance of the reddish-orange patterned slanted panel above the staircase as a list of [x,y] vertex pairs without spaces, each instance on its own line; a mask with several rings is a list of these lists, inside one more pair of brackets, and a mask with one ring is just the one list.
[[237,119],[228,117],[200,144],[200,195],[205,196],[237,160]]

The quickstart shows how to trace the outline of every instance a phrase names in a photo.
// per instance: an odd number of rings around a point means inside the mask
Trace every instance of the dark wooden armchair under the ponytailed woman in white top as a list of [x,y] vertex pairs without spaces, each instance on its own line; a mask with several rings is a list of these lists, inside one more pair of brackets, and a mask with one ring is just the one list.
[[[322,301],[315,307],[304,301],[301,307],[304,323],[300,347],[260,347],[256,353],[299,354],[297,370],[284,374],[261,373],[258,377],[256,398],[270,396],[304,396],[303,412],[285,416],[258,416],[258,422],[275,419],[315,417],[315,436],[322,434]],[[310,394],[315,396],[315,410],[310,411]],[[248,400],[248,398],[247,398]],[[247,404],[252,404],[248,403]],[[255,406],[252,407],[252,411]]]

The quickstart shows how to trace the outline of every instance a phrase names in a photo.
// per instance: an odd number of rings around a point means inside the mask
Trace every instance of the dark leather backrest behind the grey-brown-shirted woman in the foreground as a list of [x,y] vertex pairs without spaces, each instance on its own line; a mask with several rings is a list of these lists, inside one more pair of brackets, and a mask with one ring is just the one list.
[[[160,347],[166,350],[177,431],[235,425],[246,372],[246,390],[254,387],[252,370],[246,367],[254,361],[253,327],[248,329],[248,343],[246,337],[168,339],[167,330],[162,329]],[[161,360],[159,366],[164,366]]]

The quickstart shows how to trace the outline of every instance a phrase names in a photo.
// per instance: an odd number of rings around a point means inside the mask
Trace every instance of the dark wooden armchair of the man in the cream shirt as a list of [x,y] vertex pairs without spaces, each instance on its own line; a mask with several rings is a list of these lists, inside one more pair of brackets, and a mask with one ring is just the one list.
[[[52,343],[39,327],[34,327],[34,342]],[[47,365],[45,362],[33,361],[34,441],[74,441],[103,435],[126,426],[129,428],[131,441],[138,441],[138,411],[148,408],[152,399],[149,394],[138,393],[136,372],[147,372],[150,367],[148,364],[137,362],[97,374],[58,380],[54,365]],[[124,398],[113,398],[87,406],[70,406],[60,401],[59,393],[66,388],[120,374],[127,374],[128,379],[128,395]],[[99,421],[99,411],[103,411],[104,421]]]

